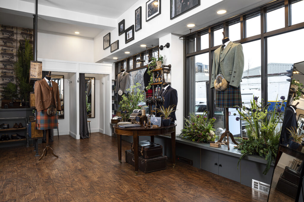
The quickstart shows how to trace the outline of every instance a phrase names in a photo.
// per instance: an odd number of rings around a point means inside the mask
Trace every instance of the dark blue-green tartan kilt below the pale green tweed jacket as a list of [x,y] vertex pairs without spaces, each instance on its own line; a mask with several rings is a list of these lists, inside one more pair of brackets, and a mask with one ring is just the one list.
[[238,105],[242,107],[242,96],[240,85],[238,88],[230,86],[225,91],[215,92],[215,106],[219,108],[233,108]]

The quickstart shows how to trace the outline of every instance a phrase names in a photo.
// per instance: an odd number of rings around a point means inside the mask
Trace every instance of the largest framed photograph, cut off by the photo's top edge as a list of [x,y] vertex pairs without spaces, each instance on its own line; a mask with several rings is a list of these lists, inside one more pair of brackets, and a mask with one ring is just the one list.
[[200,0],[171,0],[170,2],[171,20],[201,5]]

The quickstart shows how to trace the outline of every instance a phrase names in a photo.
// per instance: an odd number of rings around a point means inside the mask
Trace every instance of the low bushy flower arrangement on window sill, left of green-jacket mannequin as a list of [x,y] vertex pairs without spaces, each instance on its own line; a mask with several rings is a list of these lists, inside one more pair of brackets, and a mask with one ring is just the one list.
[[208,119],[206,112],[202,115],[189,113],[185,120],[185,129],[181,130],[180,137],[197,142],[215,141],[215,129],[213,128],[216,118]]

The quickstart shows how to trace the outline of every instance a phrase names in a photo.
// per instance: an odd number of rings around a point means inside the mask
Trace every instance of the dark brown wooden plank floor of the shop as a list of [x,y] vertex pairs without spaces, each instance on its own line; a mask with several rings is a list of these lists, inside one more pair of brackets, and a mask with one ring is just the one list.
[[[42,153],[45,143],[39,145]],[[119,164],[115,137],[68,135],[51,143],[59,156],[38,161],[33,147],[0,149],[0,201],[266,201],[267,194],[177,162],[150,174],[124,160]],[[48,154],[49,155],[49,154]]]

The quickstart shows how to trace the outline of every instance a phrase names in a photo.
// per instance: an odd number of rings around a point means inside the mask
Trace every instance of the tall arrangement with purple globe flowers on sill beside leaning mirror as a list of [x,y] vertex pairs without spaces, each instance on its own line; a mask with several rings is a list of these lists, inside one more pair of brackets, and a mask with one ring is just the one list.
[[267,164],[263,174],[266,175],[278,151],[282,127],[280,122],[283,119],[283,113],[281,112],[285,108],[285,96],[281,96],[280,101],[275,101],[275,107],[271,110],[269,108],[271,103],[262,107],[262,103],[258,104],[257,100],[258,97],[255,96],[250,101],[251,109],[249,110],[245,106],[243,108],[235,106],[240,114],[240,117],[237,117],[236,120],[248,123],[246,126],[248,140],[239,138],[241,142],[235,148],[243,154],[238,164],[247,154],[259,154],[261,157],[265,157]]

